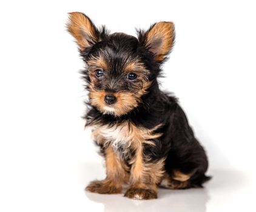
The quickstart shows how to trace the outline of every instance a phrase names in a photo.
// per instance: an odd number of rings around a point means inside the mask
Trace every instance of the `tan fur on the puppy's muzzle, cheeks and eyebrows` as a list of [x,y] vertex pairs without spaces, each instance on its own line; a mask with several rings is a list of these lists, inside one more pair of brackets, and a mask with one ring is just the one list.
[[[129,73],[133,71],[137,74],[137,78],[141,79],[142,87],[136,91],[132,92],[116,92],[109,93],[104,90],[98,90],[94,88],[94,84],[98,79],[95,76],[95,70],[97,68],[102,68],[103,71],[109,71],[109,67],[107,65],[106,59],[104,56],[90,57],[87,61],[89,76],[91,79],[89,87],[89,97],[91,105],[95,106],[100,110],[103,114],[113,114],[115,116],[121,116],[123,114],[127,114],[129,111],[133,110],[133,108],[138,107],[138,103],[141,102],[141,96],[147,93],[147,89],[150,87],[152,82],[148,81],[147,76],[149,75],[149,70],[144,67],[141,62],[137,60],[133,60],[127,62],[124,65],[123,71]],[[117,101],[113,105],[107,105],[104,101],[104,96],[107,94],[113,94],[116,96]]]

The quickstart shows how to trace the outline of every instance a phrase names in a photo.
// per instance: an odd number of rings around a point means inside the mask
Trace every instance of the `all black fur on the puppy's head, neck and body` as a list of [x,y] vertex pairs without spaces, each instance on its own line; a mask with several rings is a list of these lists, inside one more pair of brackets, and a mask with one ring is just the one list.
[[[138,30],[138,39],[124,33],[110,34],[105,27],[100,30],[95,27],[95,30],[96,39],[90,38],[93,41],[90,42],[90,47],[80,50],[80,53],[86,64],[93,56],[103,55],[107,58],[110,74],[98,81],[98,84],[95,84],[96,89],[119,92],[133,91],[140,88],[142,82],[132,84],[127,81],[120,81],[114,88],[109,87],[110,79],[121,78],[123,66],[131,58],[139,59],[144,67],[149,70],[147,79],[152,84],[147,89],[147,93],[141,96],[138,107],[121,116],[103,114],[98,108],[90,105],[90,101],[88,101],[87,104],[90,109],[84,116],[87,125],[92,122],[115,125],[129,121],[136,126],[150,129],[162,124],[162,127],[158,128],[156,132],[163,133],[163,136],[153,140],[154,146],[144,145],[144,155],[150,158],[150,161],[147,162],[157,162],[166,157],[164,168],[170,176],[174,169],[180,170],[184,174],[192,174],[188,187],[201,187],[203,182],[209,179],[205,176],[208,162],[204,148],[195,138],[186,114],[178,104],[177,99],[161,91],[158,86],[157,78],[161,74],[161,66],[166,61],[167,54],[161,61],[155,60],[155,55],[150,52],[146,45],[146,36],[149,30]],[[81,73],[87,86],[91,83],[89,71],[86,68]],[[87,87],[87,89],[89,88]],[[123,147],[120,147],[120,151],[122,151],[121,148]],[[102,145],[101,152],[104,154],[104,146]],[[126,164],[129,164],[129,158],[124,158],[124,160]]]

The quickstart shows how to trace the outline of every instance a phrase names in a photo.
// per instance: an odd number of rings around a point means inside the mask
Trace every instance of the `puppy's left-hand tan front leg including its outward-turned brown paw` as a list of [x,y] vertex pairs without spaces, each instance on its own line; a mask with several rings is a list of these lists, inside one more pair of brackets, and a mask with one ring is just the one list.
[[99,194],[121,193],[122,183],[127,181],[126,165],[116,156],[112,147],[107,147],[104,153],[107,169],[106,179],[90,182],[86,190]]

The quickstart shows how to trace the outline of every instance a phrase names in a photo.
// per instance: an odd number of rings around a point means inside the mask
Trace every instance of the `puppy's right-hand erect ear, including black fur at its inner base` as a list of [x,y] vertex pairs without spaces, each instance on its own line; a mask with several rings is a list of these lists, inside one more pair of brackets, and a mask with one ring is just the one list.
[[155,55],[156,61],[163,61],[172,50],[175,39],[172,22],[153,24],[146,33],[139,31],[139,41]]

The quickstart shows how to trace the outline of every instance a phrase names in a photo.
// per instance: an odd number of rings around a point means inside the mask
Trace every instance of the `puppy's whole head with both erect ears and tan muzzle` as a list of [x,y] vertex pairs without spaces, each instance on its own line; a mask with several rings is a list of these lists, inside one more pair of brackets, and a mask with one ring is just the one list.
[[98,29],[83,13],[70,13],[67,25],[86,62],[83,75],[89,104],[103,114],[122,116],[138,105],[158,76],[174,41],[172,22],[158,22],[138,39]]

